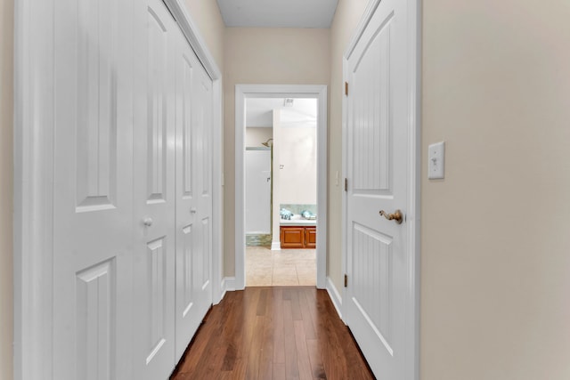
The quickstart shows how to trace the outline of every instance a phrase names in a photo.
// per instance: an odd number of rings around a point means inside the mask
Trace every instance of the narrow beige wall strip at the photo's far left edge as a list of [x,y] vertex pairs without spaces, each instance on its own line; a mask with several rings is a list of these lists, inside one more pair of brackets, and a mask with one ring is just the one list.
[[12,379],[13,0],[0,0],[0,379]]

